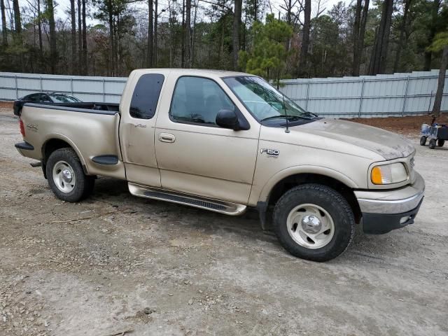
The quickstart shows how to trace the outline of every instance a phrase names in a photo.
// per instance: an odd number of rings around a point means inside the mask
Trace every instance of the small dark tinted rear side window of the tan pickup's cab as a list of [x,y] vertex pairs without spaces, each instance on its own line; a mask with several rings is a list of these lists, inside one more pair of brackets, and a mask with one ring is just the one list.
[[148,73],[139,78],[132,94],[130,115],[139,119],[151,119],[154,116],[164,76]]

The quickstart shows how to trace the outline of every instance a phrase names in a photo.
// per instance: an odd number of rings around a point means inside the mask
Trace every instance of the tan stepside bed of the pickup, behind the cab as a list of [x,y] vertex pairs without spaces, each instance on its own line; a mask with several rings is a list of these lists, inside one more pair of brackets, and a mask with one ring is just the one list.
[[23,106],[24,140],[32,146],[23,155],[45,162],[45,148],[63,143],[73,148],[90,175],[125,179],[118,140],[118,104],[69,103]]

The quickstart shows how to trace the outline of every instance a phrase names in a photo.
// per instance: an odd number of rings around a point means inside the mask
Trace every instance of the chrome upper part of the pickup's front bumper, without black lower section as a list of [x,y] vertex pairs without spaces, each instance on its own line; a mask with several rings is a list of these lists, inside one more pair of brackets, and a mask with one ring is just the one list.
[[368,214],[402,214],[419,206],[425,193],[425,181],[415,172],[415,181],[395,190],[355,191],[361,212]]

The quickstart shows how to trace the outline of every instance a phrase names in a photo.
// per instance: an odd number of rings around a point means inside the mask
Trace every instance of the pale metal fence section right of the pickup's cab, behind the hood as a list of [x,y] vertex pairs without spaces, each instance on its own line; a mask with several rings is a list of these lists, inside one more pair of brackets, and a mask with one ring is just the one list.
[[[381,117],[428,113],[433,108],[438,70],[393,75],[283,80],[280,90],[319,116]],[[448,76],[442,111],[448,111]]]

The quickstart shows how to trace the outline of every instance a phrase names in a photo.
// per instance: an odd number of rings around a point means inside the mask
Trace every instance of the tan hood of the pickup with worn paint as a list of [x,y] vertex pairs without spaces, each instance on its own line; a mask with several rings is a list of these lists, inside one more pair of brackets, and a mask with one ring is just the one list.
[[335,139],[373,151],[386,160],[405,158],[415,150],[412,143],[393,132],[345,120],[320,119],[291,127],[327,139]]

